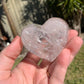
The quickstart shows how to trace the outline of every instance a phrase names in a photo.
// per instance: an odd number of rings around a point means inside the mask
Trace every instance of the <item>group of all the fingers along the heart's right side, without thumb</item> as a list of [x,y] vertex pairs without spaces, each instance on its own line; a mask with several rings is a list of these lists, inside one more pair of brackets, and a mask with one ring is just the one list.
[[75,31],[69,31],[69,35],[71,36],[69,36],[69,42],[66,46],[66,49],[62,51],[62,53],[52,64],[51,68],[53,68],[53,71],[50,70],[50,73],[53,73],[50,77],[50,84],[63,84],[67,67],[72,62],[76,53],[79,51],[81,45],[83,44],[82,39],[77,36]]

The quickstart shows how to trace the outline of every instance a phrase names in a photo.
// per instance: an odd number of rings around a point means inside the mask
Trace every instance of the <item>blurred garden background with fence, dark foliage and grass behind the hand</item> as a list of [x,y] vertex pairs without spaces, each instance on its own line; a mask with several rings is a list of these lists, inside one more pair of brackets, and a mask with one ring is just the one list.
[[[67,21],[84,40],[84,0],[0,0],[0,51],[21,35],[31,23],[43,24],[51,17]],[[20,55],[17,65],[25,56]],[[68,68],[65,84],[84,84],[84,45]]]

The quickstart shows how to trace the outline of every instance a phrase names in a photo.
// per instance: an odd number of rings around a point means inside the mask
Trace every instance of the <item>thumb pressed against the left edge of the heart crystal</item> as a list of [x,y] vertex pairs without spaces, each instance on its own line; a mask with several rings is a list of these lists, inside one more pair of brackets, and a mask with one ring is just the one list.
[[22,42],[19,36],[12,41],[12,43],[6,47],[0,53],[0,80],[6,79],[11,75],[11,69],[22,50]]

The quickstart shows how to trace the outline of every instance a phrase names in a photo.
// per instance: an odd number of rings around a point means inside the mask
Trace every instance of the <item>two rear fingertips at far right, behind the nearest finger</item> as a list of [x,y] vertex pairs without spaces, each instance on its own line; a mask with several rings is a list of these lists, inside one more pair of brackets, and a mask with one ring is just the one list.
[[66,48],[70,49],[71,56],[70,56],[70,62],[74,59],[74,56],[79,51],[83,41],[80,37],[77,36],[78,32],[76,30],[69,30],[68,34],[68,43]]

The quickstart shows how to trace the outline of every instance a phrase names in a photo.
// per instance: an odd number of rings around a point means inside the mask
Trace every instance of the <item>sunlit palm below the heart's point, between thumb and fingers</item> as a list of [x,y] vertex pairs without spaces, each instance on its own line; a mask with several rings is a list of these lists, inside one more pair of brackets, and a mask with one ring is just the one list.
[[[29,57],[30,56],[28,56],[28,58]],[[36,61],[28,58],[26,57],[19,63],[19,65],[12,71],[10,78],[1,82],[1,84],[49,84],[50,77],[48,70],[52,75],[53,67],[55,67],[56,62],[51,63],[50,66],[44,67],[44,64],[49,63],[45,63],[44,61],[39,67],[36,65]]]

